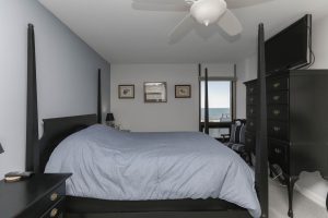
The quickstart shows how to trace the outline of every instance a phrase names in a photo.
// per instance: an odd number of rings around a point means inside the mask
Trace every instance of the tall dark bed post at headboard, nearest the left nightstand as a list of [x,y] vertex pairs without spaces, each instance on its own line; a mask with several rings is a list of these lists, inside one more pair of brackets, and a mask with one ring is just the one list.
[[36,63],[34,26],[27,31],[27,107],[26,107],[26,171],[35,171],[38,165],[38,118],[36,93]]

